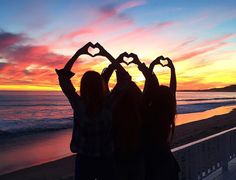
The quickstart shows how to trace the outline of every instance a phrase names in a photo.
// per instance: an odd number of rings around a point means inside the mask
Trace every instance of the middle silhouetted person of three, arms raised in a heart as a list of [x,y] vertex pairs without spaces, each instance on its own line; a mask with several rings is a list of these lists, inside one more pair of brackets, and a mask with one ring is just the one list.
[[124,56],[128,54],[122,53],[114,59],[100,44],[97,47],[100,49],[100,55],[115,64],[113,70],[116,70],[117,84],[110,94],[116,179],[142,180],[144,179],[141,151],[142,92],[120,65]]

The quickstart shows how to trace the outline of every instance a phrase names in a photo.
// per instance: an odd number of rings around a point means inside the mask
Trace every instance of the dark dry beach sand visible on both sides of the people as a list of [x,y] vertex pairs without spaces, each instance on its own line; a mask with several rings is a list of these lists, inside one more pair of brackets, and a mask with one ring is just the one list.
[[[176,127],[172,147],[207,137],[236,126],[236,109],[224,115],[216,115],[201,121]],[[1,180],[73,179],[74,156],[44,163],[0,176]]]

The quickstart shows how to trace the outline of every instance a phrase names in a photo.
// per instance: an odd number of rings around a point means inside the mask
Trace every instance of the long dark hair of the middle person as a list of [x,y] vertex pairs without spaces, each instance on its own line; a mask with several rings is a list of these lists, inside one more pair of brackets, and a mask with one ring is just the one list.
[[113,133],[116,149],[135,152],[140,148],[142,92],[134,82],[115,97],[113,103]]

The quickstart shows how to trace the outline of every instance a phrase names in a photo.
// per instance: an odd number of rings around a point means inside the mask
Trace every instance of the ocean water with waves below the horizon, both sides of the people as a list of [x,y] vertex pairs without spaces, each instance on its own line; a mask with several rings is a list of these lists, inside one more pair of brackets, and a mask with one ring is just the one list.
[[[235,92],[178,92],[177,112],[187,114],[236,105]],[[0,91],[0,136],[72,127],[72,109],[62,92]]]

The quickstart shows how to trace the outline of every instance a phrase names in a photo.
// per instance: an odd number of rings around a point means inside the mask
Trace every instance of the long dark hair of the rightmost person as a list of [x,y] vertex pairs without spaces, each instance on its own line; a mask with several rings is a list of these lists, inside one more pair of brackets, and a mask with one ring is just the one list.
[[159,86],[147,90],[144,93],[144,104],[150,138],[161,142],[172,140],[175,131],[176,99],[170,88]]

